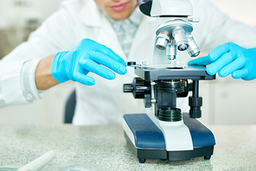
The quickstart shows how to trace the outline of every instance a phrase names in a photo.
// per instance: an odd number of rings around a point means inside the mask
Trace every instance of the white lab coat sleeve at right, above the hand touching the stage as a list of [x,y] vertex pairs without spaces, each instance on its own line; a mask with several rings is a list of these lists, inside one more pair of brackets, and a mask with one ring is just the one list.
[[200,22],[194,24],[195,30],[200,31],[195,40],[199,40],[198,44],[202,52],[209,53],[226,42],[234,42],[244,48],[256,47],[255,28],[234,21],[208,0],[193,2],[195,17],[200,17]]

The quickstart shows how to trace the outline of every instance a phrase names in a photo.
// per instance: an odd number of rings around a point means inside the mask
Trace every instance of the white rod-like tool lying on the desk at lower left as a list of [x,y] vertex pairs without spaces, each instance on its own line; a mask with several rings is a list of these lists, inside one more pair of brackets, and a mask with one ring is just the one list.
[[29,164],[23,166],[22,168],[18,169],[17,171],[37,171],[45,167],[48,162],[54,160],[56,156],[54,150],[49,151],[48,153],[40,156],[39,158],[35,159],[34,161],[29,162]]

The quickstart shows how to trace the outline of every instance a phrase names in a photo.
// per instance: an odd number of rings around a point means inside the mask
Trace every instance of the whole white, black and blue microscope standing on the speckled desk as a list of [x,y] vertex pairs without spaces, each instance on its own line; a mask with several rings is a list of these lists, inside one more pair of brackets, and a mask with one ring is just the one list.
[[[213,133],[196,118],[202,117],[199,80],[213,80],[205,66],[178,66],[176,50],[191,57],[200,54],[190,22],[193,9],[189,0],[138,0],[144,15],[156,17],[156,48],[152,65],[128,62],[138,78],[124,85],[124,92],[143,98],[150,113],[125,114],[123,128],[127,144],[144,163],[146,159],[188,161],[209,160],[214,152]],[[160,59],[160,60],[159,60]],[[168,61],[168,62],[166,62]],[[162,62],[162,63],[161,63]],[[189,96],[189,113],[176,107],[176,98]]]

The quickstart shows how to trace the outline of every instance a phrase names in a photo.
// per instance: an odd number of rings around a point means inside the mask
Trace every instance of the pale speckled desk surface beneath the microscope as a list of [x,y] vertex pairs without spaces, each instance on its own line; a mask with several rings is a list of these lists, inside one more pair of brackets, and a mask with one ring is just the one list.
[[[216,145],[207,161],[146,160],[139,163],[120,125],[0,125],[0,165],[22,166],[49,150],[54,166],[85,163],[103,170],[255,170],[256,125],[212,125]],[[92,165],[92,166],[91,166]]]

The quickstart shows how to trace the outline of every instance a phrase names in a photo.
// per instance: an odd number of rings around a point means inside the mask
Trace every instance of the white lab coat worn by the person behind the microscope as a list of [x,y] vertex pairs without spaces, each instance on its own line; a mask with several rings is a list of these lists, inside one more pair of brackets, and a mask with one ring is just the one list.
[[[193,35],[202,52],[208,53],[216,46],[233,41],[246,48],[256,47],[256,31],[241,22],[232,21],[221,13],[208,0],[190,0],[194,16],[201,22],[194,24]],[[38,63],[40,58],[67,51],[81,39],[89,38],[106,45],[119,54],[125,61],[152,60],[155,42],[155,18],[144,16],[135,35],[131,52],[125,56],[118,43],[110,22],[99,12],[93,0],[67,0],[61,8],[50,16],[42,26],[29,36],[29,41],[22,43],[12,53],[0,61],[0,106],[29,103],[28,94],[22,91],[21,70],[26,60]],[[181,65],[191,58],[187,52],[177,54]],[[31,73],[35,72],[31,67]],[[31,85],[34,98],[40,98],[33,74]],[[121,123],[125,113],[144,112],[142,99],[134,99],[131,93],[123,92],[123,84],[131,83],[136,77],[133,68],[128,73],[118,75],[113,80],[102,79],[89,73],[96,83],[93,86],[76,84],[77,105],[74,124]],[[187,98],[177,102],[182,111],[188,111]]]

